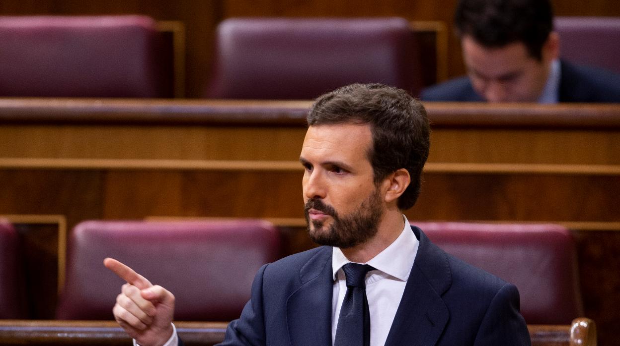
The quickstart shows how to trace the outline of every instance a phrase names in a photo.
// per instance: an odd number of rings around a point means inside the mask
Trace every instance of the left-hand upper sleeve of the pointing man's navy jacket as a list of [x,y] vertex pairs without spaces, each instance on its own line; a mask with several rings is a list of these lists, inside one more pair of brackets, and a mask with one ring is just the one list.
[[241,317],[228,324],[224,342],[219,345],[265,345],[263,275],[267,266],[260,267],[252,283],[250,301],[243,308]]

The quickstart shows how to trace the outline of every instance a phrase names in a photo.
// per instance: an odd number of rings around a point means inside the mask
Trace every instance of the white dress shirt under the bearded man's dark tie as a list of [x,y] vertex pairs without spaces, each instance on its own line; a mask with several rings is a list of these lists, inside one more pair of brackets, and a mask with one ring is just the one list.
[[[401,303],[407,279],[414,265],[415,254],[420,241],[411,231],[409,220],[394,243],[387,246],[370,261],[363,263],[373,266],[366,274],[366,297],[370,310],[370,345],[385,345],[387,334],[392,327],[396,310]],[[332,273],[334,274],[334,290],[332,296],[332,344],[336,338],[336,327],[340,316],[342,301],[347,293],[347,281],[342,266],[350,261],[339,248],[332,250]]]

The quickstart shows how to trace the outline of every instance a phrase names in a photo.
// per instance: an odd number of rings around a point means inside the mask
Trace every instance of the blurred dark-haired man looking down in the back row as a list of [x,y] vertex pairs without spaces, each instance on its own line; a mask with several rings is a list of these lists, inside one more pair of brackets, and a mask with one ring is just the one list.
[[559,59],[547,0],[461,0],[454,25],[467,77],[422,90],[422,100],[620,102],[618,74]]

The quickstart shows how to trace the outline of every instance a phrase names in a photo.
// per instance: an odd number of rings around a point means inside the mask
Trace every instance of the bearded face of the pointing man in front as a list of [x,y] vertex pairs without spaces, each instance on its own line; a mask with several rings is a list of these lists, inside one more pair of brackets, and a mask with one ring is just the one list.
[[308,233],[322,245],[350,248],[373,238],[384,213],[367,153],[370,126],[310,126],[301,149]]

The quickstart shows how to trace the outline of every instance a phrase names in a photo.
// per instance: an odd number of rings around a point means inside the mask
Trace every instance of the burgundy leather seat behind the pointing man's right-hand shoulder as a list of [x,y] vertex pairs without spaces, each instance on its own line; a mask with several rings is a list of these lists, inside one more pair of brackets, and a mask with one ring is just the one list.
[[528,324],[570,324],[583,316],[577,255],[559,225],[412,222],[459,259],[514,283]]

